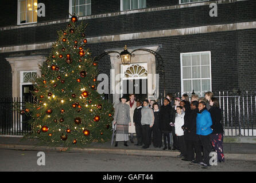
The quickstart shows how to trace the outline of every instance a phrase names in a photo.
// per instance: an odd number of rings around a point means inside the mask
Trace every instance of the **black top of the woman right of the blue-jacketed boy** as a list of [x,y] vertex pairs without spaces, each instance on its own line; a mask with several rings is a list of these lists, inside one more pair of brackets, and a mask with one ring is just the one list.
[[214,130],[212,134],[224,133],[223,126],[220,123],[220,121],[222,120],[222,110],[220,108],[212,106],[209,112],[211,113],[212,117],[211,128]]

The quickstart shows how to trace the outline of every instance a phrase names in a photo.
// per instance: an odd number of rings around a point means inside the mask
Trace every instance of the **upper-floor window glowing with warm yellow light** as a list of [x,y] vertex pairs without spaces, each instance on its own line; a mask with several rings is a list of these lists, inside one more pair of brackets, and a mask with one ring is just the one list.
[[18,0],[18,25],[37,22],[37,0]]

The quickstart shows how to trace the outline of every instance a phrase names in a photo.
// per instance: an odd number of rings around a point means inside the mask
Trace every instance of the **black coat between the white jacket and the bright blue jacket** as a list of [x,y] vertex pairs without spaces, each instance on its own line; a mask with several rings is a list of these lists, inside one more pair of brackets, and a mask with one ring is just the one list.
[[196,117],[198,109],[189,110],[184,116],[184,138],[185,140],[199,141],[199,136],[196,134]]

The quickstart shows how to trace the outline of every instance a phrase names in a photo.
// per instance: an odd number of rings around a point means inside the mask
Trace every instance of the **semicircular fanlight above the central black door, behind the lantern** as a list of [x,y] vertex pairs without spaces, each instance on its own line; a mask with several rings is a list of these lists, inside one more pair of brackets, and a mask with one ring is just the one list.
[[125,70],[123,79],[146,79],[148,77],[146,64],[131,64],[123,69]]

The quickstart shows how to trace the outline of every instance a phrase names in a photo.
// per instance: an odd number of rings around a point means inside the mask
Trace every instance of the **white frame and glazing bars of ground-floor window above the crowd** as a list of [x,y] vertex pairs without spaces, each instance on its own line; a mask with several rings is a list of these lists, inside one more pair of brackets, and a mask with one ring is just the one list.
[[[200,78],[190,78],[190,79],[183,79],[183,55],[184,54],[201,54],[201,53],[208,53],[209,54],[209,64],[210,64],[210,78],[202,78],[201,77],[201,57],[200,57]],[[191,66],[192,69],[192,66]],[[184,94],[186,92],[184,92],[184,86],[183,86],[183,80],[197,80],[197,79],[210,79],[210,91],[212,91],[212,67],[211,67],[211,51],[196,51],[196,52],[187,52],[187,53],[180,53],[180,71],[181,71],[181,94]],[[191,71],[192,74],[192,71]],[[193,90],[193,82],[192,82],[192,86],[191,89]],[[197,91],[195,91],[197,92]],[[192,93],[192,91],[191,91]],[[202,83],[200,82],[200,94],[201,96],[204,95],[204,92],[202,92]]]

